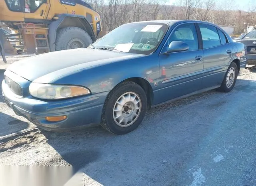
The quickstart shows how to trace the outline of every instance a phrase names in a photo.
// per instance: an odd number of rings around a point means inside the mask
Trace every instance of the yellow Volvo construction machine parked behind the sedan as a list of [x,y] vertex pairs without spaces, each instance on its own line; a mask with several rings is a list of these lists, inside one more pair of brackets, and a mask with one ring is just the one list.
[[100,15],[86,0],[0,0],[0,51],[6,38],[16,36],[27,53],[87,47],[102,37]]

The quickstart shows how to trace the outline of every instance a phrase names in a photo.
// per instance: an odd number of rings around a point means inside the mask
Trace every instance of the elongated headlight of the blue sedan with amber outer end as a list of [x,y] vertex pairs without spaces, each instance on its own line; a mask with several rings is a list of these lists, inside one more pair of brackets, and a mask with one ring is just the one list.
[[31,83],[29,85],[29,93],[41,99],[63,99],[90,94],[90,91],[78,86]]

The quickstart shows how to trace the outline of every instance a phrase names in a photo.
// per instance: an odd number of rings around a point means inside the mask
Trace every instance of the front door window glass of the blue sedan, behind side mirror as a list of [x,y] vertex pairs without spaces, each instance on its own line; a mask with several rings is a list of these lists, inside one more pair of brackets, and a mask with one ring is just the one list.
[[175,29],[168,40],[168,45],[173,41],[188,44],[188,50],[198,50],[198,38],[194,24],[183,24]]

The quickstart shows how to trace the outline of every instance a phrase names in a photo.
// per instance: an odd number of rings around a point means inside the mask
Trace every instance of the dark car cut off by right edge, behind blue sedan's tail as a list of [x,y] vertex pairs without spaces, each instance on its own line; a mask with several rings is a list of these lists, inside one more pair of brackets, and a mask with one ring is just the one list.
[[246,46],[248,65],[256,65],[256,30],[249,32],[242,39],[236,40]]

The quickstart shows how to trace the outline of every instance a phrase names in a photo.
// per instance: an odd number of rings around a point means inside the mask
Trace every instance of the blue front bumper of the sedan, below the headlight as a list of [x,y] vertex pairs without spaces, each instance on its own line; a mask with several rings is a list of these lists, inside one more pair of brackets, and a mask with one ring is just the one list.
[[[41,100],[32,96],[17,98],[2,81],[2,94],[6,104],[21,115],[48,131],[62,131],[99,125],[102,107],[108,92],[63,100]],[[67,116],[65,120],[50,122],[47,116]]]

